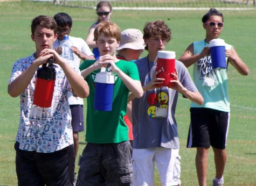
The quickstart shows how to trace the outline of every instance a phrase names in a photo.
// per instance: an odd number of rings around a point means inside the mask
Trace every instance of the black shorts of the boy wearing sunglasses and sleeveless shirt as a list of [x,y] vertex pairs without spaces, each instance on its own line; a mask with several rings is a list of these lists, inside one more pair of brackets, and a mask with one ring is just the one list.
[[208,108],[190,108],[190,128],[187,147],[225,149],[229,131],[229,112]]

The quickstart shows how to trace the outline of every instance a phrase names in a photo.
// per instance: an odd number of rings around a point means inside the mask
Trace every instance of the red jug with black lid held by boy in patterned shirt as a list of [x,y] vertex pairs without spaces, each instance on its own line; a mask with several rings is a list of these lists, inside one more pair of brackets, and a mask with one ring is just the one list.
[[37,69],[36,85],[34,88],[33,104],[41,108],[49,108],[52,105],[52,96],[56,70],[53,68],[53,59],[48,60],[42,67]]

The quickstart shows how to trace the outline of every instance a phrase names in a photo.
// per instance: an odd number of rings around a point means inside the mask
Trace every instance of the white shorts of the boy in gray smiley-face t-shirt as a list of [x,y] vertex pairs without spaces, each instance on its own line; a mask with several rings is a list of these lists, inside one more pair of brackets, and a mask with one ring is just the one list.
[[181,184],[181,156],[178,153],[179,149],[163,147],[133,149],[133,185],[154,185],[155,163],[162,185]]

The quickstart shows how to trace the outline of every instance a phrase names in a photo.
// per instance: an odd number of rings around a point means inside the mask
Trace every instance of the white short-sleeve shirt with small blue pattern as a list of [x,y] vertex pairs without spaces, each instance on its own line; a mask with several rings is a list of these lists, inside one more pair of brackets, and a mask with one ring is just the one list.
[[[16,61],[9,83],[22,74],[34,60],[34,54],[32,54]],[[77,67],[71,67],[80,73]],[[20,121],[16,141],[19,142],[19,148],[22,150],[51,153],[73,144],[71,112],[67,101],[67,92],[71,88],[63,69],[58,65],[54,65],[54,68],[56,81],[52,106],[44,108],[40,116],[31,117],[30,115],[37,72],[20,94]]]

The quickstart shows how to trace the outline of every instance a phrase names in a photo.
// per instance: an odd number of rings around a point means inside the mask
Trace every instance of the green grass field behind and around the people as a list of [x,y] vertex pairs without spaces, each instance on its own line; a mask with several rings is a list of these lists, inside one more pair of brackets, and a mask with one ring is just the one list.
[[[7,93],[12,64],[34,52],[34,43],[30,38],[31,20],[38,15],[54,16],[58,12],[66,12],[73,18],[71,35],[84,39],[89,26],[96,20],[95,10],[64,8],[53,6],[52,3],[0,2],[0,185],[17,185],[13,145],[19,121],[19,98],[11,98]],[[172,40],[165,49],[175,51],[178,58],[192,41],[205,37],[200,21],[205,12],[114,10],[112,21],[117,23],[121,30],[142,30],[148,21],[165,20],[172,31]],[[221,38],[235,46],[241,59],[250,68],[248,76],[239,75],[232,66],[228,71],[231,120],[227,139],[225,185],[256,185],[256,10],[223,13],[225,26]],[[146,52],[142,55],[146,55]],[[182,185],[198,185],[195,169],[196,151],[185,148],[190,121],[189,105],[188,100],[178,99],[176,118],[181,141],[181,181]],[[79,154],[85,146],[84,134],[80,133]],[[76,169],[78,168],[77,166]],[[207,185],[211,185],[214,176],[215,167],[211,152]],[[160,185],[157,174],[155,185]]]

